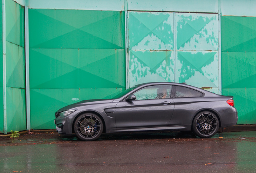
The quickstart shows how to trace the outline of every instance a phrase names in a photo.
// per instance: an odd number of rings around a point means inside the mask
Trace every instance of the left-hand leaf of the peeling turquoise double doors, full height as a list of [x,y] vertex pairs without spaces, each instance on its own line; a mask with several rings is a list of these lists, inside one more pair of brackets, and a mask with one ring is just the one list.
[[129,12],[129,86],[174,81],[173,13]]

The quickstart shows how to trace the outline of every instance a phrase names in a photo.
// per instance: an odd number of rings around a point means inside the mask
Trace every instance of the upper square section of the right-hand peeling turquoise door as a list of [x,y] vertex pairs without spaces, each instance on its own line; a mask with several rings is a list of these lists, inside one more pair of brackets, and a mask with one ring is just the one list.
[[178,50],[218,50],[218,15],[176,13]]

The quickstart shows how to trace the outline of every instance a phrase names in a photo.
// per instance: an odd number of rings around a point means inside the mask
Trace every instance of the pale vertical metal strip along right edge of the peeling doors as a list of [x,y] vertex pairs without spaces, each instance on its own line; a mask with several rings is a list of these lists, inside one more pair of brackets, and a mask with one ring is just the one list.
[[221,1],[218,0],[218,43],[219,43],[219,94],[221,95],[222,93],[222,82],[221,82],[221,75],[222,75],[222,70],[221,70]]

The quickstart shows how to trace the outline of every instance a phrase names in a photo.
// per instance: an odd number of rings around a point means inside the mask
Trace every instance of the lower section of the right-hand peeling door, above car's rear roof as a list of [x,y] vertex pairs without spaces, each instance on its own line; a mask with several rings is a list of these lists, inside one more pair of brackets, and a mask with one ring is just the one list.
[[217,52],[177,52],[176,75],[178,82],[187,82],[196,87],[218,88],[218,68]]

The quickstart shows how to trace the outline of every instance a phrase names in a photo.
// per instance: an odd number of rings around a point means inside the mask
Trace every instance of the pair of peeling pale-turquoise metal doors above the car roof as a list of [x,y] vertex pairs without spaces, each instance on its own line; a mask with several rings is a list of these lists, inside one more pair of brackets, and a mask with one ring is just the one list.
[[129,12],[130,87],[176,78],[219,93],[217,14],[173,15]]

